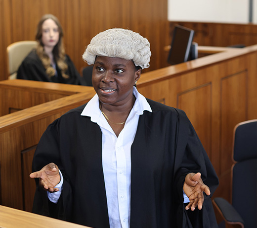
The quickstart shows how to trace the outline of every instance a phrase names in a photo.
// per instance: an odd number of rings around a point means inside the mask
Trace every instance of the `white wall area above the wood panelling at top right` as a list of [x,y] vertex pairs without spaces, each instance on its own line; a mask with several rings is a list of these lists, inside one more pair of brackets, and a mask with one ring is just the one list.
[[[257,23],[257,0],[253,3]],[[248,23],[249,0],[168,0],[168,20]]]

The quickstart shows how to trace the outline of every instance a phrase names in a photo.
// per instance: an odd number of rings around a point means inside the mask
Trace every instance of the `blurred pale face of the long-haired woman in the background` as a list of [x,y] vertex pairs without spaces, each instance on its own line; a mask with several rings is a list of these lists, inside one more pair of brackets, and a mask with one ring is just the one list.
[[59,28],[52,19],[42,24],[42,43],[45,47],[54,48],[59,41]]

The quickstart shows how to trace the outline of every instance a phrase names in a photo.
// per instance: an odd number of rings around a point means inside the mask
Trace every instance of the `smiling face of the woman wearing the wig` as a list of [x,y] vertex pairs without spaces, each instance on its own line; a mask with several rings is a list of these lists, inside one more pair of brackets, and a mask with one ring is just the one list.
[[98,56],[93,67],[92,84],[102,103],[120,106],[131,101],[133,85],[140,74],[141,69],[135,70],[131,60]]

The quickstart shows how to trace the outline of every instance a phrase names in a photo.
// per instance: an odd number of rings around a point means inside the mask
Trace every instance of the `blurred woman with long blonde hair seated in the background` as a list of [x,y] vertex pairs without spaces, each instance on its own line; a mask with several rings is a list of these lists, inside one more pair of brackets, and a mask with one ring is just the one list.
[[84,85],[83,78],[63,47],[59,20],[45,14],[37,27],[38,46],[21,63],[17,79]]

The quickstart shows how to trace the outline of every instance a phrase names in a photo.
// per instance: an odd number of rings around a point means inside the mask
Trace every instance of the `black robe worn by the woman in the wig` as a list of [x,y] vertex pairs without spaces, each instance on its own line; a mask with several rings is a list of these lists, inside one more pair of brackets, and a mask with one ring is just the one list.
[[[140,115],[131,146],[130,228],[216,228],[212,201],[186,211],[182,186],[189,172],[201,172],[211,193],[218,185],[214,168],[183,111],[147,99],[152,113]],[[64,176],[54,205],[37,188],[33,212],[93,228],[108,228],[102,169],[102,132],[82,116],[85,105],[51,123],[38,144],[33,171],[50,162]],[[36,181],[37,182],[37,181]]]

